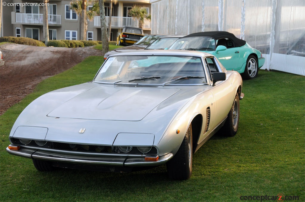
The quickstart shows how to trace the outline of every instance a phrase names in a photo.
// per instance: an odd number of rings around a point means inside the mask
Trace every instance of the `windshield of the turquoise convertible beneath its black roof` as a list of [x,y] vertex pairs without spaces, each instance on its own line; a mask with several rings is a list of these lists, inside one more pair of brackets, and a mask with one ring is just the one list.
[[178,39],[169,49],[172,50],[215,50],[212,37],[184,37]]

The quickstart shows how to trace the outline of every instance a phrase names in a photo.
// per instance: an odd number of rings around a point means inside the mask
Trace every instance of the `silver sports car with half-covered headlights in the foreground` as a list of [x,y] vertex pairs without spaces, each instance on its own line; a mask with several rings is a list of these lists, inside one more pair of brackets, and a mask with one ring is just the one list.
[[234,136],[242,78],[211,54],[140,50],[108,57],[91,82],[48,92],[16,120],[6,148],[54,167],[128,172],[166,164],[188,179],[219,129]]

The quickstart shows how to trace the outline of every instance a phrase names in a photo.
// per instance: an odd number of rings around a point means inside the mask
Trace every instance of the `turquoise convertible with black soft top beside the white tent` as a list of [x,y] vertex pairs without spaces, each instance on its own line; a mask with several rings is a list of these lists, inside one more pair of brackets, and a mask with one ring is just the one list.
[[227,70],[238,71],[246,79],[257,77],[258,69],[265,63],[259,50],[225,31],[192,33],[178,39],[169,49],[210,53]]

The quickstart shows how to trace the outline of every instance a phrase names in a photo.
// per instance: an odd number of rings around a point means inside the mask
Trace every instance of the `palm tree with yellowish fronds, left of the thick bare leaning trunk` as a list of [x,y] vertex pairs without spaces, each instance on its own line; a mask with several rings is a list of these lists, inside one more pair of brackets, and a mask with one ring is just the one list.
[[86,40],[86,32],[88,27],[87,20],[92,20],[94,18],[95,13],[98,13],[99,6],[98,2],[95,1],[93,6],[88,11],[87,3],[90,3],[91,0],[74,0],[70,2],[70,9],[74,10],[81,17],[81,40]]

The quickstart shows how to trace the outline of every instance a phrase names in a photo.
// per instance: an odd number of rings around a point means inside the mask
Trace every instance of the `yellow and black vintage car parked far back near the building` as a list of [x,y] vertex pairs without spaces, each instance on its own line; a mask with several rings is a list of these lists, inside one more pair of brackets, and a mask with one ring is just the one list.
[[129,46],[140,40],[144,36],[142,28],[123,27],[120,36],[117,37],[117,45]]

